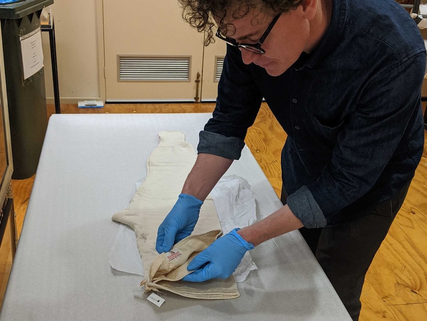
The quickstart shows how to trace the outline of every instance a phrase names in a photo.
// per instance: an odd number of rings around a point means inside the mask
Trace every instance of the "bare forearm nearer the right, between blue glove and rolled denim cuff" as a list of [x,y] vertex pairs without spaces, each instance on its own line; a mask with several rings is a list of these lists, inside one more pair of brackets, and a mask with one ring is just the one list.
[[265,219],[239,230],[237,233],[247,242],[257,246],[276,236],[303,227],[303,223],[286,204]]

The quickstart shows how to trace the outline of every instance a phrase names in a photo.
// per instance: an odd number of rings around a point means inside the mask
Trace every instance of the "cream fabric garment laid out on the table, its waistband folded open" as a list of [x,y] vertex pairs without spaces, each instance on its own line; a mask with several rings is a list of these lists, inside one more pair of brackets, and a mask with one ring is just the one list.
[[176,202],[197,155],[185,135],[178,131],[161,131],[160,143],[147,160],[147,177],[132,197],[129,206],[112,216],[114,221],[135,231],[144,266],[145,291],[166,290],[197,299],[232,299],[239,296],[233,276],[203,283],[179,281],[188,263],[218,238],[221,225],[214,201],[209,195],[200,210],[193,233],[175,244],[171,252],[158,254],[157,230]]

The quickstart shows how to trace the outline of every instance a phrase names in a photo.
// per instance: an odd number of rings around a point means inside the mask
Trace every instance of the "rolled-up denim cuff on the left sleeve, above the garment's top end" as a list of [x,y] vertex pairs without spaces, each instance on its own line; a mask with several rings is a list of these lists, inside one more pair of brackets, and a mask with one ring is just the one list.
[[228,159],[239,159],[245,142],[238,137],[227,137],[215,132],[202,130],[199,133],[197,152],[213,154]]

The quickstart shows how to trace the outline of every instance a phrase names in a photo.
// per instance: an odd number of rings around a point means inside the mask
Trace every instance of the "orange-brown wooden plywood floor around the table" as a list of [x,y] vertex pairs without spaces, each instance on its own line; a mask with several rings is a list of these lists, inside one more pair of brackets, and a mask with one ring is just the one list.
[[[62,113],[196,113],[212,112],[213,104],[107,104],[103,109],[62,105]],[[49,115],[54,112],[48,106]],[[280,151],[286,134],[263,104],[246,143],[274,190],[280,195]],[[425,139],[425,150],[427,147]],[[427,153],[423,154],[408,196],[369,269],[362,292],[360,321],[427,320]],[[34,176],[12,182],[18,234]],[[0,249],[0,299],[10,271],[7,241]]]

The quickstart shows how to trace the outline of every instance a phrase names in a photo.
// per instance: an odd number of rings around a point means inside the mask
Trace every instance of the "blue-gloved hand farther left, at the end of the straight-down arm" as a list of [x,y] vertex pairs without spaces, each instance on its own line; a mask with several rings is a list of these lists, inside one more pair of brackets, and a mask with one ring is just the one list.
[[168,252],[173,245],[189,236],[199,219],[203,202],[188,194],[179,194],[178,200],[166,215],[157,231],[156,251]]

